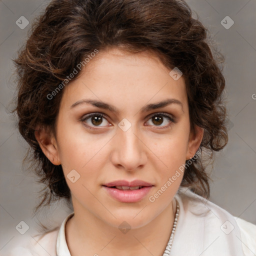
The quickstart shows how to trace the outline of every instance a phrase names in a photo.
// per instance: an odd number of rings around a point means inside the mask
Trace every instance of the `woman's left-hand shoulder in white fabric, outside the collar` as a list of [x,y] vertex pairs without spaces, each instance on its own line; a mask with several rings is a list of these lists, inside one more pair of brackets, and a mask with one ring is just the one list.
[[26,242],[15,246],[8,256],[55,256],[56,239],[59,228],[30,237]]

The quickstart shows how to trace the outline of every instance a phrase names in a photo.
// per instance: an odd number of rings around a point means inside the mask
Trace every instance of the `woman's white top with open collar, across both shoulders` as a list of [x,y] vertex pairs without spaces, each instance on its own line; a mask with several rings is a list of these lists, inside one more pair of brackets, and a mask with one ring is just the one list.
[[[163,256],[255,256],[256,225],[232,216],[216,204],[180,188],[175,194],[179,216],[170,252]],[[34,236],[27,245],[12,249],[9,256],[71,256],[65,240],[65,224]]]

